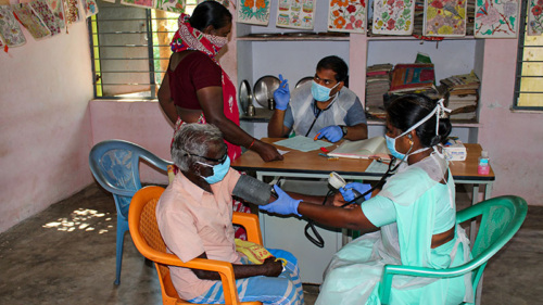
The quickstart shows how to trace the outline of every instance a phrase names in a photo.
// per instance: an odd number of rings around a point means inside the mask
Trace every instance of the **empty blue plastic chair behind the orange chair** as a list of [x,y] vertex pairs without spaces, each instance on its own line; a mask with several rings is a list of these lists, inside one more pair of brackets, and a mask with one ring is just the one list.
[[139,163],[167,171],[168,161],[157,157],[142,147],[123,140],[108,140],[96,144],[89,154],[89,166],[98,183],[113,194],[117,208],[116,277],[121,283],[123,245],[128,231],[128,208],[132,195],[141,189]]

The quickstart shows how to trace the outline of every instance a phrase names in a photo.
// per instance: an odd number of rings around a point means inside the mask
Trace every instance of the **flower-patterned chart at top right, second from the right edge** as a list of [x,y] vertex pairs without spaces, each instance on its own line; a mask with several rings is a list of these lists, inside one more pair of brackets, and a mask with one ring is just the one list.
[[517,38],[518,0],[477,0],[476,38]]

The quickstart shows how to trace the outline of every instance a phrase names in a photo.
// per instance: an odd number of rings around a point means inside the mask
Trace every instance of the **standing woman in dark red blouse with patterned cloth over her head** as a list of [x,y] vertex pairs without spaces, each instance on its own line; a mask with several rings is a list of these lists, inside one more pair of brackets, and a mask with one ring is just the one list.
[[168,69],[159,90],[159,102],[175,125],[210,123],[224,134],[228,155],[233,161],[243,145],[264,161],[282,160],[273,145],[264,143],[239,127],[236,87],[216,55],[228,42],[232,15],[216,1],[200,3],[192,14],[179,16],[179,29],[172,40]]

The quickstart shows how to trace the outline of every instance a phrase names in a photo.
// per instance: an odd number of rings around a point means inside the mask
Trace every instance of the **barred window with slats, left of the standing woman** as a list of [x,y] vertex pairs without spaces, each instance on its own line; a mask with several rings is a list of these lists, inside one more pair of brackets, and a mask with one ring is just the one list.
[[[197,0],[187,1],[192,11]],[[98,0],[89,22],[97,99],[155,99],[179,13]]]

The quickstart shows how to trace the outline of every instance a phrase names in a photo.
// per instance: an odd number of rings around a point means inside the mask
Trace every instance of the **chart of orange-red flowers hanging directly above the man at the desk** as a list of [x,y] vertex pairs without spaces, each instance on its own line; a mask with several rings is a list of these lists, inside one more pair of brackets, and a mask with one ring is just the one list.
[[330,0],[328,5],[328,30],[364,33],[366,15],[366,1]]

